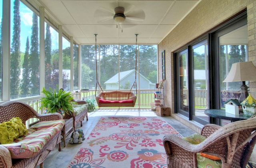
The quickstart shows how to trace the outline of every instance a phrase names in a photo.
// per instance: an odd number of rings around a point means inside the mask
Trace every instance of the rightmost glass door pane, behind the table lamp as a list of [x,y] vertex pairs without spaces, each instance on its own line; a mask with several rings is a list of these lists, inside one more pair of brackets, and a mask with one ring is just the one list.
[[[232,64],[240,61],[248,61],[248,33],[247,25],[235,28],[230,32],[223,31],[218,37],[219,49],[219,85],[220,85],[220,109],[224,109],[224,102],[230,99],[239,99],[242,82],[223,82],[228,75]],[[246,85],[250,83],[246,81]],[[221,125],[230,121],[221,120]]]

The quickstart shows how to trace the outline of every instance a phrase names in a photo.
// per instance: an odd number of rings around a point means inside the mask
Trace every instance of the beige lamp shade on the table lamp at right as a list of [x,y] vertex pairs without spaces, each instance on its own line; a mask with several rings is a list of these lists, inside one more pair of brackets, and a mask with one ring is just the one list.
[[233,63],[223,82],[255,81],[256,67],[252,61]]

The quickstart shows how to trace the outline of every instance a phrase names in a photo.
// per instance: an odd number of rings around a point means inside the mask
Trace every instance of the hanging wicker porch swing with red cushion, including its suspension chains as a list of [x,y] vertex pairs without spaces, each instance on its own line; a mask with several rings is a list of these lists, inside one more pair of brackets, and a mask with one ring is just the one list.
[[[137,72],[137,36],[136,36],[136,58],[135,58],[135,81],[130,91],[103,91],[100,83],[98,82],[98,68],[97,68],[97,34],[95,35],[95,59],[96,59],[96,87],[95,87],[95,98],[98,103],[98,107],[134,107],[137,99],[137,83],[136,83],[136,72]],[[97,85],[99,85],[102,92],[96,96]],[[136,95],[131,91],[132,88],[136,87]]]

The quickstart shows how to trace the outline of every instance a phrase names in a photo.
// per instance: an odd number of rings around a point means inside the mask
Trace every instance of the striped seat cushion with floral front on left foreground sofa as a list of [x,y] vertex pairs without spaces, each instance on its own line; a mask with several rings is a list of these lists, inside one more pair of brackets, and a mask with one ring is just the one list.
[[3,144],[12,158],[30,158],[35,156],[54,134],[61,131],[65,121],[42,121],[28,128],[28,133],[16,138],[12,144]]

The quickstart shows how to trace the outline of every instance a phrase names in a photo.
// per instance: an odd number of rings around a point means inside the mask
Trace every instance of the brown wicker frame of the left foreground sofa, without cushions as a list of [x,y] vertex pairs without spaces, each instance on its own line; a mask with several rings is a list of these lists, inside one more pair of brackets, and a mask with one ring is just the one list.
[[[26,124],[26,121],[31,118],[38,118],[40,122],[54,120],[61,121],[62,119],[62,116],[59,113],[40,115],[32,107],[20,101],[8,101],[1,104],[0,123],[9,121],[12,119],[12,117],[20,117],[23,124]],[[33,168],[37,167],[39,164],[40,168],[42,168],[44,159],[48,156],[51,150],[56,148],[56,144],[61,142],[60,133],[60,131],[56,132],[56,134],[54,134],[51,139],[46,142],[38,154],[29,158],[26,156],[26,158],[22,159],[12,159],[8,148],[6,148],[4,145],[0,145],[0,168]]]

